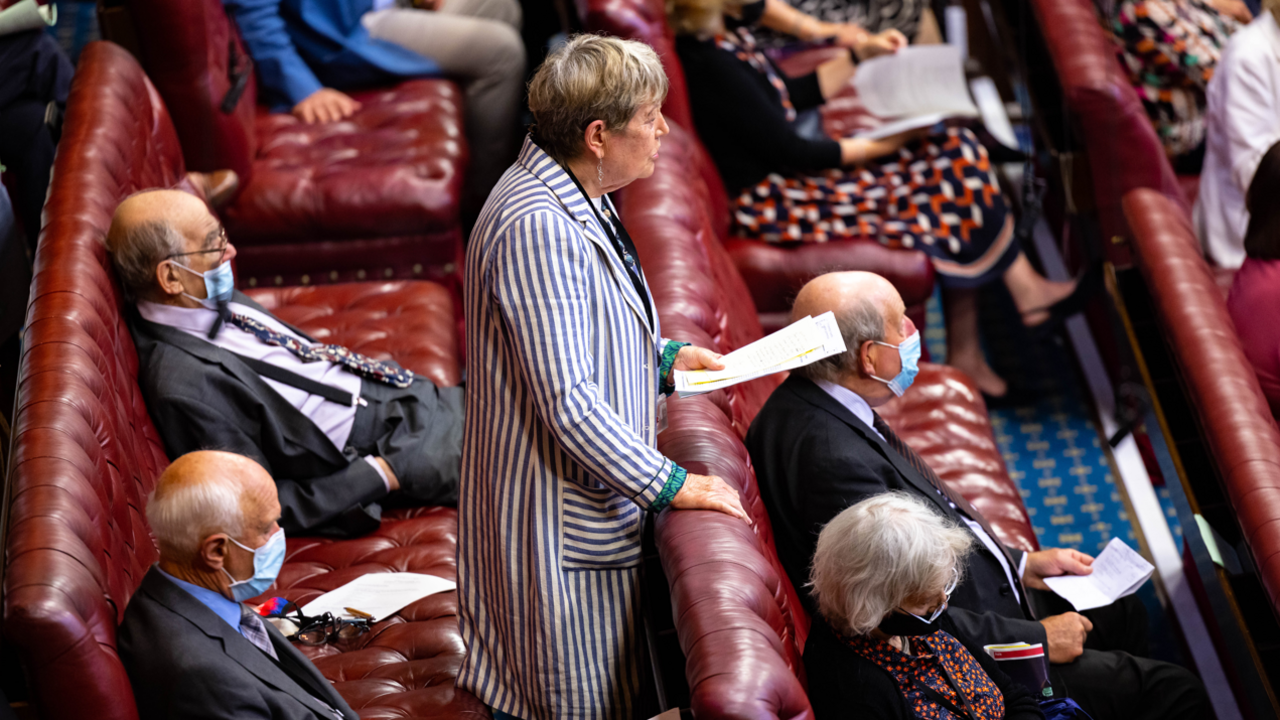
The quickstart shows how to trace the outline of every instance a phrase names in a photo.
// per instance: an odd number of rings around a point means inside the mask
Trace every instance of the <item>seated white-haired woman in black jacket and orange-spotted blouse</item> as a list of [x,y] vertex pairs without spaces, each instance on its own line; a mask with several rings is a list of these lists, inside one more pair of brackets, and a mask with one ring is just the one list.
[[973,537],[906,493],[854,505],[818,536],[822,619],[805,643],[809,701],[828,717],[1030,720],[1044,715],[946,614]]

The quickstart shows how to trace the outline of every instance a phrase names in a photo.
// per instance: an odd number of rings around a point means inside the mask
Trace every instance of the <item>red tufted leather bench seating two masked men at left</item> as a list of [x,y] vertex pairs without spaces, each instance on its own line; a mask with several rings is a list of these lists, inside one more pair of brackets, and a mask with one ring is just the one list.
[[[115,205],[182,183],[182,149],[159,94],[119,46],[84,49],[36,255],[13,425],[4,632],[45,720],[136,720],[116,625],[157,551],[143,509],[168,465],[137,384],[124,299],[102,238]],[[461,377],[451,292],[435,283],[259,290],[307,332],[434,382]],[[357,575],[454,577],[457,518],[389,514],[351,541],[289,538],[271,594],[306,602]],[[416,602],[349,646],[311,650],[365,720],[489,717],[453,679],[463,647],[457,593]]]

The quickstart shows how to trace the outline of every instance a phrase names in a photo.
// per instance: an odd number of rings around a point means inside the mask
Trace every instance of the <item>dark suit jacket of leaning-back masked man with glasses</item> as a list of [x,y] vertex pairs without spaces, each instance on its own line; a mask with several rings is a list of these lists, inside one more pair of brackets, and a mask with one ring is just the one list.
[[[266,313],[241,292],[233,300]],[[338,451],[234,354],[151,323],[136,307],[129,324],[138,383],[169,457],[196,450],[252,457],[275,478],[285,533],[347,536],[378,528],[376,501],[387,484],[353,448]]]

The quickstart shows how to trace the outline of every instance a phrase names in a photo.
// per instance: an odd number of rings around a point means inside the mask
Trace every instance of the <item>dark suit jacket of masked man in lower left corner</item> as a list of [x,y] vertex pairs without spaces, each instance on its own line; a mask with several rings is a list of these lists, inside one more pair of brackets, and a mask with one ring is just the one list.
[[138,716],[334,720],[319,696],[348,720],[360,720],[305,655],[270,623],[264,625],[279,664],[152,566],[116,637]]

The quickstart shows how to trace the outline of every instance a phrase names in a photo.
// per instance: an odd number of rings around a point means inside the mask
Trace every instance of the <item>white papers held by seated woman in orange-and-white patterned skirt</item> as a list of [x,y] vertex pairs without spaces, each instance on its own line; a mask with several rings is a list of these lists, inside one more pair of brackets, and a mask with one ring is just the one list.
[[872,58],[858,65],[854,87],[858,101],[882,122],[854,137],[879,140],[947,118],[978,117],[964,79],[964,58],[951,45],[913,45]]

